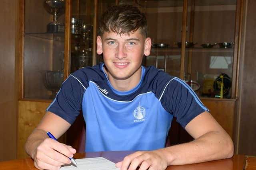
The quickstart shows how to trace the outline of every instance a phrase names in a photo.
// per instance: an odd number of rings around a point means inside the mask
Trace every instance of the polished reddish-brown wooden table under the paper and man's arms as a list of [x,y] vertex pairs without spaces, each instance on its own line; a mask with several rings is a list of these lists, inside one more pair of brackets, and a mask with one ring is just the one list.
[[[87,152],[76,153],[74,158],[104,157],[118,162],[131,151]],[[37,170],[31,158],[0,162],[0,170]],[[215,160],[198,164],[168,166],[166,170],[256,170],[256,157],[234,155],[230,159]]]

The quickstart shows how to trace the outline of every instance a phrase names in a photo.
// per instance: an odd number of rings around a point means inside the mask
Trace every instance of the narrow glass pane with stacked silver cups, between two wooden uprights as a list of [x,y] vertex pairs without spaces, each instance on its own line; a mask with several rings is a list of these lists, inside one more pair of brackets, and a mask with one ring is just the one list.
[[72,0],[71,69],[92,66],[94,1]]

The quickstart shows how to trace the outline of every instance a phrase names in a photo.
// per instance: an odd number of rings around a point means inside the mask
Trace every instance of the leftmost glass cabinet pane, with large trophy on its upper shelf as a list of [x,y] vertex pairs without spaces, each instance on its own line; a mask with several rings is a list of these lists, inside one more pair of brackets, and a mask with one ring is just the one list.
[[64,0],[25,0],[23,98],[52,99],[63,82]]

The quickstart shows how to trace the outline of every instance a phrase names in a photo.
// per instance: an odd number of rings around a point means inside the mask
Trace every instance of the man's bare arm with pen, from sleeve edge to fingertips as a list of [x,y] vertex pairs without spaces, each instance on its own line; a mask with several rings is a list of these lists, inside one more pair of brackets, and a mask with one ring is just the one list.
[[36,168],[57,170],[61,165],[71,163],[69,158],[73,157],[76,150],[49,138],[46,133],[50,131],[58,139],[70,126],[70,123],[58,115],[50,111],[46,112],[25,145],[25,150],[34,159]]

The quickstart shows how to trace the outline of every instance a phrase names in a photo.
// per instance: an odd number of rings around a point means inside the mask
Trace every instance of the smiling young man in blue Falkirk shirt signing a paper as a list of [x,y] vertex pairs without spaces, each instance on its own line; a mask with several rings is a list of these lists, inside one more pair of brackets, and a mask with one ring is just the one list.
[[[143,150],[116,163],[121,170],[164,170],[233,155],[232,140],[186,83],[141,66],[150,47],[146,18],[136,7],[114,6],[103,14],[97,53],[103,53],[104,64],[78,70],[62,84],[26,143],[37,168],[55,170],[70,163],[76,150],[46,131],[60,137],[81,109],[86,152]],[[164,148],[173,116],[195,140]]]

